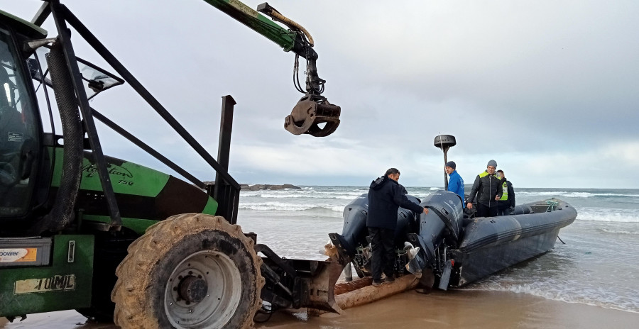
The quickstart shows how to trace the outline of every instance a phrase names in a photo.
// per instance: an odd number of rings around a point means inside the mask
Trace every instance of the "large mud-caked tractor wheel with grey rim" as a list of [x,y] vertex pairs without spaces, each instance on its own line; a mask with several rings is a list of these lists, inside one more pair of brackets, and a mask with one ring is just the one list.
[[121,328],[251,328],[261,307],[261,258],[239,225],[173,216],[129,246],[111,294]]

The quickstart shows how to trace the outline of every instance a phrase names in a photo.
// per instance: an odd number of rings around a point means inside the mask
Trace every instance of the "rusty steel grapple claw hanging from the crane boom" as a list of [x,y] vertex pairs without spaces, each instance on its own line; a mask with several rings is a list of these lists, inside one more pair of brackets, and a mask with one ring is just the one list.
[[[284,119],[284,128],[293,135],[328,136],[339,126],[341,113],[342,108],[330,104],[326,97],[306,94],[295,104],[290,116]],[[322,123],[325,124],[320,127]]]

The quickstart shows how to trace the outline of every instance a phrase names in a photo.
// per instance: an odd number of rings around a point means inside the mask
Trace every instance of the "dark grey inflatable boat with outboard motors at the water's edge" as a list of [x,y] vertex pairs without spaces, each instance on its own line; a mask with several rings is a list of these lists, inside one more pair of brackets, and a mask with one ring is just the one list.
[[[415,274],[422,286],[444,290],[547,252],[554,247],[559,229],[577,218],[577,211],[559,199],[525,203],[509,216],[487,218],[464,213],[459,196],[449,191],[408,199],[430,211],[417,214],[398,209],[395,273]],[[362,194],[344,208],[342,234],[329,234],[337,261],[344,267],[353,264],[359,277],[371,275],[367,211],[368,195]]]

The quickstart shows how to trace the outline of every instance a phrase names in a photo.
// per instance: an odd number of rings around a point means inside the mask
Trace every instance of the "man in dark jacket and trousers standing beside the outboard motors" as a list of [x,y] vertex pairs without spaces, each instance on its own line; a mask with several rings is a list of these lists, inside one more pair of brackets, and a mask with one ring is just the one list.
[[428,213],[427,208],[413,203],[406,197],[404,186],[397,182],[399,176],[398,169],[388,169],[386,174],[374,180],[368,189],[366,226],[368,226],[368,235],[371,236],[371,247],[373,248],[371,263],[373,286],[381,284],[382,272],[386,274],[387,282],[395,280],[393,240],[398,208],[407,208],[415,213]]

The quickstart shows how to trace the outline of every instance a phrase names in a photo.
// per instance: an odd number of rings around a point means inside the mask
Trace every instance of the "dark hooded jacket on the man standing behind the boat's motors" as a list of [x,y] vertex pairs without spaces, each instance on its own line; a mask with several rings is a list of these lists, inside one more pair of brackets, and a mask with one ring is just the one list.
[[424,208],[410,201],[404,191],[404,186],[388,178],[388,176],[375,179],[371,183],[370,189],[368,189],[366,226],[395,230],[399,207],[422,213]]

